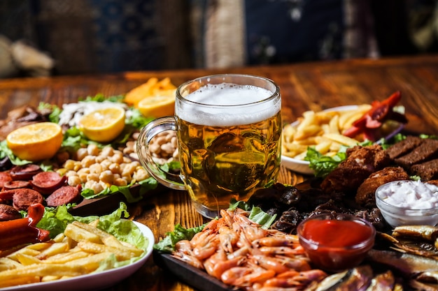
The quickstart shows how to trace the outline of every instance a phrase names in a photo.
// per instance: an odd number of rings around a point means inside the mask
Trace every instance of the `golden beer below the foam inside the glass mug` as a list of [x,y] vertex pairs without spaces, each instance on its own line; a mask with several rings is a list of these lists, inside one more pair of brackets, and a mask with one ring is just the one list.
[[253,124],[203,126],[179,120],[181,173],[196,207],[217,213],[276,181],[281,113]]

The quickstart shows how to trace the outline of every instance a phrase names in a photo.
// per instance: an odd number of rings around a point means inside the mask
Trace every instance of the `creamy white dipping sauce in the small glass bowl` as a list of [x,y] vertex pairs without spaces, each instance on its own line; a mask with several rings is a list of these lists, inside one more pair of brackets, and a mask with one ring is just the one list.
[[379,197],[395,207],[431,209],[438,207],[438,186],[422,181],[395,181],[381,186]]

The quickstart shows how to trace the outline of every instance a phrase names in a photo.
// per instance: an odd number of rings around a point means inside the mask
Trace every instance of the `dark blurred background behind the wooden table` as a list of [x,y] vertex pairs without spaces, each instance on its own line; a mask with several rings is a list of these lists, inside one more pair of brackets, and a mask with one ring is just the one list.
[[1,0],[0,77],[438,52],[437,0]]

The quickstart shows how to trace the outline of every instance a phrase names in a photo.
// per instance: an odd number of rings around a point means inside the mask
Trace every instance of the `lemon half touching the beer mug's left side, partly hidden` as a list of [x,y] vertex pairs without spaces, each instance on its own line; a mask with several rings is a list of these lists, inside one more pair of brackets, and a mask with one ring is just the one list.
[[175,113],[175,96],[150,96],[139,102],[139,111],[145,117],[166,117]]

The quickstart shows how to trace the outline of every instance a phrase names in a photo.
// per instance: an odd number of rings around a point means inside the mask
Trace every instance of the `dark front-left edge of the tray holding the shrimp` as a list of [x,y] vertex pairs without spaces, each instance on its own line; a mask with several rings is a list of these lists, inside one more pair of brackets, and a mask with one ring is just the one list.
[[153,259],[157,266],[170,271],[179,280],[192,288],[200,291],[236,291],[229,285],[222,283],[218,279],[210,276],[206,271],[192,267],[176,258],[172,258],[168,253],[153,251]]

